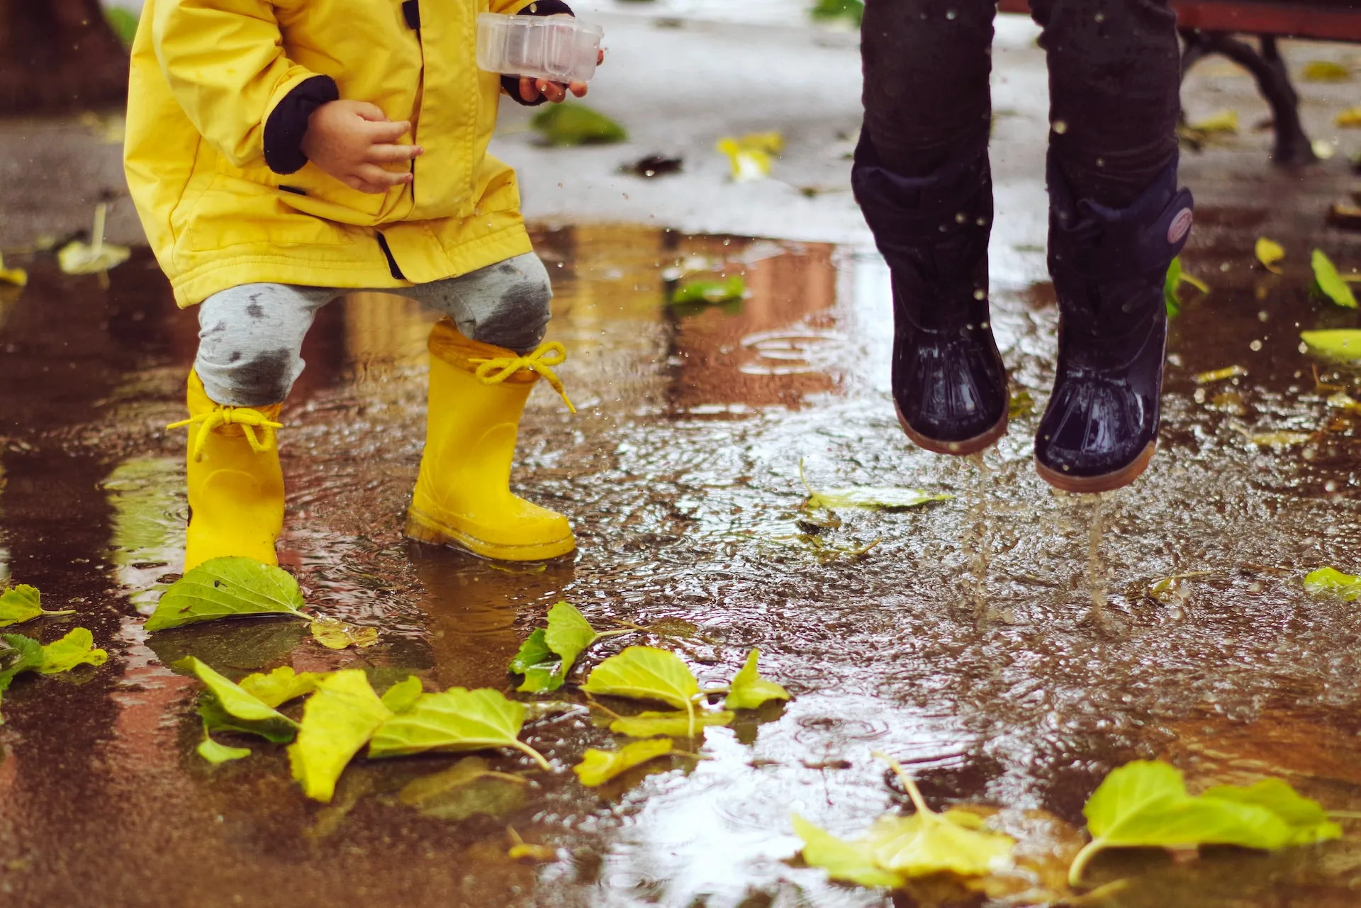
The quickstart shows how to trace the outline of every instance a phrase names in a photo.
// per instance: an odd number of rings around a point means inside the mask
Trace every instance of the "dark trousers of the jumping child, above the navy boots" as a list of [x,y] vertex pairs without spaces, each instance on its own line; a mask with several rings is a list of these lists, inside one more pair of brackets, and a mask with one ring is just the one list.
[[[1049,143],[1078,199],[1123,208],[1177,154],[1180,48],[1166,0],[1032,0],[1049,61]],[[867,0],[864,128],[924,177],[992,116],[995,0]]]

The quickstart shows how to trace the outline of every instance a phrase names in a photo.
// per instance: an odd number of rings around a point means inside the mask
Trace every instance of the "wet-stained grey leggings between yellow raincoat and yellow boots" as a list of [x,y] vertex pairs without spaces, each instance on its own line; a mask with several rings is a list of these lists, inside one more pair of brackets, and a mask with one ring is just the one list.
[[[306,365],[302,338],[317,310],[347,293],[362,291],[246,283],[204,299],[193,368],[208,398],[231,407],[287,398]],[[548,272],[532,252],[459,278],[370,293],[415,299],[452,317],[465,338],[517,353],[543,340],[553,301]]]

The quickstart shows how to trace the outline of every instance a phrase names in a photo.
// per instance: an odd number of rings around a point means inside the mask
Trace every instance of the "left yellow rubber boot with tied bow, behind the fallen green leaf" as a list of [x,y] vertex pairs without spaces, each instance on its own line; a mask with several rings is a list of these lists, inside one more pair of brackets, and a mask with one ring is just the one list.
[[282,404],[227,407],[214,403],[189,373],[189,532],[184,569],[210,558],[245,555],[279,564],[274,542],[283,530],[283,471],[275,422]]

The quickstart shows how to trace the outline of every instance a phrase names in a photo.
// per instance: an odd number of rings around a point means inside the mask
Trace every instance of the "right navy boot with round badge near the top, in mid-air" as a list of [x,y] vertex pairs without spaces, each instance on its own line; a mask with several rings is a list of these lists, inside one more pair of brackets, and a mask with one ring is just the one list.
[[1074,199],[1049,152],[1049,274],[1059,368],[1034,438],[1036,470],[1064,491],[1143,472],[1158,441],[1168,265],[1191,230],[1173,161],[1128,208]]

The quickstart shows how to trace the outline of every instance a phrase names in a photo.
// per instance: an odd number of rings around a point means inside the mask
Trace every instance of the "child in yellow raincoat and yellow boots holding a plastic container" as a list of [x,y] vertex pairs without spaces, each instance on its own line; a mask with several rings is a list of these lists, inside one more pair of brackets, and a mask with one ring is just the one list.
[[[125,169],[181,306],[189,373],[185,569],[275,564],[275,430],[317,309],[357,289],[448,317],[430,335],[429,427],[407,535],[480,555],[573,550],[566,517],[513,496],[553,297],[514,172],[487,154],[502,88],[585,94],[476,68],[489,0],[147,0],[132,49]],[[570,15],[562,0],[490,11]],[[566,402],[566,395],[563,393]],[[568,402],[570,407],[570,402]]]

